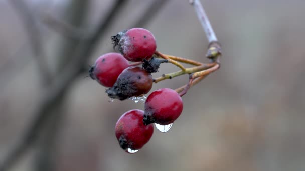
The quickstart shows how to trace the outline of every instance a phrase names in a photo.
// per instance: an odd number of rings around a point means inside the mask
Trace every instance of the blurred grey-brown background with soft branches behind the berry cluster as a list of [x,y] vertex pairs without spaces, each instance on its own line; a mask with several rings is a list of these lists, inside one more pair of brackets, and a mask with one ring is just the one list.
[[305,170],[305,1],[201,2],[221,68],[183,97],[169,132],[155,129],[131,155],[114,126],[143,103],[109,103],[84,78],[88,65],[132,27],[153,32],[165,54],[207,62],[188,0],[0,0],[0,170]]

